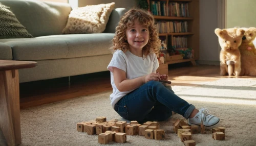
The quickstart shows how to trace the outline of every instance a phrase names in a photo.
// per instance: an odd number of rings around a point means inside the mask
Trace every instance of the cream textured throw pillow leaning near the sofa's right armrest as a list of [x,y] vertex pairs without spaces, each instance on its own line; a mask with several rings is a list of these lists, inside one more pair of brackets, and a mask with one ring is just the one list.
[[115,3],[89,5],[73,9],[63,34],[102,33]]

